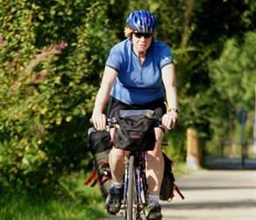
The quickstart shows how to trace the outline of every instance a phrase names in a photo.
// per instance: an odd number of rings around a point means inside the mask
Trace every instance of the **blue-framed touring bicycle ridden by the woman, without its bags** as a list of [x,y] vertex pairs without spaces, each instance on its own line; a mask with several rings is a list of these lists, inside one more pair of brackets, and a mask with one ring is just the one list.
[[[127,110],[130,115],[141,114],[141,110]],[[124,111],[125,112],[125,111]],[[148,114],[148,110],[147,110]],[[109,128],[115,128],[115,118],[107,120]],[[155,120],[155,126],[162,128],[161,120]],[[162,145],[168,145],[162,143]],[[123,185],[123,201],[119,213],[126,220],[146,220],[148,204],[148,187],[146,177],[146,152],[130,151],[124,158],[125,172]]]

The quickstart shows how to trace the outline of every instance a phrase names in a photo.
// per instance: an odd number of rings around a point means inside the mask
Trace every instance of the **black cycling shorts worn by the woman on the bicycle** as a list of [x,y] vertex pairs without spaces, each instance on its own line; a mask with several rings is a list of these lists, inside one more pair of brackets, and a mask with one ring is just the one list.
[[109,96],[108,100],[108,118],[114,118],[118,110],[144,110],[150,109],[154,110],[154,118],[161,119],[163,114],[166,114],[166,105],[164,103],[164,98],[154,100],[152,102],[143,105],[129,105],[112,96]]

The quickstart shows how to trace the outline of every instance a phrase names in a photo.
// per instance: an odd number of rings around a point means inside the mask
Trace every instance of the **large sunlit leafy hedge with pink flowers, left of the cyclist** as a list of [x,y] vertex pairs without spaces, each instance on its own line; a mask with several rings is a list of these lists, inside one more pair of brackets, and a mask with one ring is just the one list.
[[[106,10],[101,1],[3,4],[0,168],[6,184],[38,190],[87,165],[87,121],[110,48]],[[101,44],[101,53],[93,44]]]

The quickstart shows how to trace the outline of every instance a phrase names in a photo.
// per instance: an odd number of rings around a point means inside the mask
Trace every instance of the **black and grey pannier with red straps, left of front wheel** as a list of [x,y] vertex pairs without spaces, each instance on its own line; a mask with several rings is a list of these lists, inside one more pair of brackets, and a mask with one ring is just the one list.
[[94,156],[94,172],[85,185],[88,186],[94,180],[91,187],[97,184],[104,198],[107,198],[111,187],[109,152],[112,149],[112,143],[110,139],[109,131],[106,130],[93,131],[88,135],[89,149]]

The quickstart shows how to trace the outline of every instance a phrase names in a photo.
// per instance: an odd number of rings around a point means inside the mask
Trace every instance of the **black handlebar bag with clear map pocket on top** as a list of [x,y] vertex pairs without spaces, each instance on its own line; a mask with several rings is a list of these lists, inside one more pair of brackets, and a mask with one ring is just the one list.
[[119,110],[113,143],[115,148],[131,151],[154,150],[155,135],[151,110]]

